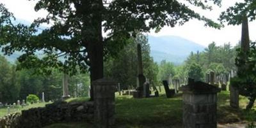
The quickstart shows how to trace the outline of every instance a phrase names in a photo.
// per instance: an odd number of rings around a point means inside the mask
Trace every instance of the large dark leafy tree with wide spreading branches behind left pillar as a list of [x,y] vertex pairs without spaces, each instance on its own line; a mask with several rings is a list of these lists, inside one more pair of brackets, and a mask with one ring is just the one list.
[[[4,17],[0,19],[0,25],[4,26],[1,45],[5,46],[4,52],[8,54],[14,50],[22,51],[24,54],[19,61],[25,68],[39,67],[47,72],[49,67],[55,66],[74,73],[74,66],[79,65],[81,70],[89,66],[90,78],[94,81],[103,77],[104,57],[122,49],[126,40],[135,35],[135,31],[159,31],[165,25],[182,25],[191,18],[203,20],[205,25],[211,27],[220,27],[191,9],[196,6],[211,10],[210,4],[220,5],[220,2],[221,0],[40,0],[35,10],[47,10],[48,15],[35,20],[29,27],[11,24],[11,20],[8,20],[10,13],[5,13],[6,10],[1,5],[0,12],[4,12],[1,13]],[[51,24],[51,27],[36,33],[43,23]],[[106,36],[103,36],[104,32],[107,33]],[[35,54],[37,50],[43,51],[47,56],[39,59]],[[60,60],[59,57],[65,60]]]

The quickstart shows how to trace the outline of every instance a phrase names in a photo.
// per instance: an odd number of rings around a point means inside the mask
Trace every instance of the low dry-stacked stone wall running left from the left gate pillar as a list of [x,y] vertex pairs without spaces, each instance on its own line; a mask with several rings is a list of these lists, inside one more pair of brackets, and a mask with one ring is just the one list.
[[2,128],[35,128],[58,122],[93,120],[93,102],[47,104],[45,108],[31,108],[20,113],[12,113],[0,118]]

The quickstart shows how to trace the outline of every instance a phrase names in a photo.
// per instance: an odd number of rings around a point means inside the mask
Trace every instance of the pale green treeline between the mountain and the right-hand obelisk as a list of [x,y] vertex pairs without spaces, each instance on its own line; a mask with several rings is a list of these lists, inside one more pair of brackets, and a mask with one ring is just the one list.
[[220,81],[222,77],[219,76],[228,76],[231,71],[236,71],[235,58],[237,47],[238,45],[232,47],[230,43],[216,46],[213,42],[203,52],[191,52],[185,61],[183,72],[188,72],[189,66],[196,63],[202,68],[203,74],[214,71],[217,80]]

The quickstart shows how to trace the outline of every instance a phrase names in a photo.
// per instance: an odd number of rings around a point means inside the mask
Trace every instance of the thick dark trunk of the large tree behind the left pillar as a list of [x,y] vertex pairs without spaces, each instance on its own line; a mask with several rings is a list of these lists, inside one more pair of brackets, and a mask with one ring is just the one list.
[[[86,26],[90,27],[90,37],[86,37],[88,41],[88,56],[90,59],[90,79],[91,79],[91,90],[90,90],[90,101],[93,101],[93,86],[92,82],[103,78],[103,38],[102,38],[102,0],[94,0],[93,3],[96,5],[95,10],[92,12],[92,21]],[[84,21],[85,24],[88,21]]]

